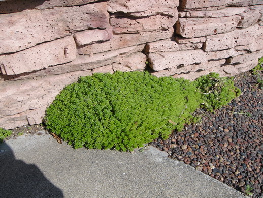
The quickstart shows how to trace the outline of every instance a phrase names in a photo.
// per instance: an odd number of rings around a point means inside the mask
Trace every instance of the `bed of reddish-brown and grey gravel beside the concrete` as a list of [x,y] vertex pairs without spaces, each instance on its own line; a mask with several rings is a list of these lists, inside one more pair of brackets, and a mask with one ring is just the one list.
[[234,80],[240,97],[213,113],[199,109],[200,123],[150,144],[243,193],[249,185],[253,197],[262,197],[263,93],[250,72]]

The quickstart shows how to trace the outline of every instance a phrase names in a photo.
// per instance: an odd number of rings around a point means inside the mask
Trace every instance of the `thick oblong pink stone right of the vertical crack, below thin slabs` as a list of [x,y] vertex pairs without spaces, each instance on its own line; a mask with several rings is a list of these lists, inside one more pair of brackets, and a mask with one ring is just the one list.
[[227,33],[235,30],[240,19],[240,16],[205,19],[179,18],[179,20],[176,22],[176,33],[185,38]]

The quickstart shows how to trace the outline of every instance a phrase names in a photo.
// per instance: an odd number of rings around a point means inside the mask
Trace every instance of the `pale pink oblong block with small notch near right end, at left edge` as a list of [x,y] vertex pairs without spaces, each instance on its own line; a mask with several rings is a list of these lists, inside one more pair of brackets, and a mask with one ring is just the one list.
[[76,44],[73,36],[68,36],[0,56],[0,69],[5,75],[15,75],[71,62],[75,58]]

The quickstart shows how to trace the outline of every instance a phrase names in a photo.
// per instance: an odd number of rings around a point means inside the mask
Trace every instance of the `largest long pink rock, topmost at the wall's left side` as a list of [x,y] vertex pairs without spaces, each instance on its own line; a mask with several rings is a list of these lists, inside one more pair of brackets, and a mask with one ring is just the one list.
[[[59,14],[58,14],[59,13]],[[106,2],[0,15],[0,54],[21,51],[88,28],[105,29]]]

